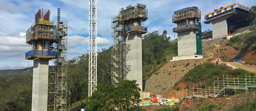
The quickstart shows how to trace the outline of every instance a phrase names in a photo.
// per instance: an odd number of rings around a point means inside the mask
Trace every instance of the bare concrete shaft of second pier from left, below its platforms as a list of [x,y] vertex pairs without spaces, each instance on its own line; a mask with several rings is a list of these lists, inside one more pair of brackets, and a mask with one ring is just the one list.
[[126,44],[130,45],[130,51],[126,55],[126,65],[130,65],[126,79],[136,80],[142,90],[142,39],[141,33],[128,34],[124,38]]

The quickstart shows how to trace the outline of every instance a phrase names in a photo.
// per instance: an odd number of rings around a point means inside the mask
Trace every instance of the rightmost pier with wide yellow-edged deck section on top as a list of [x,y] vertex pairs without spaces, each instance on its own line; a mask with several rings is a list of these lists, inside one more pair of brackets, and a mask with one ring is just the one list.
[[249,16],[250,8],[234,3],[226,7],[221,7],[214,12],[204,15],[204,23],[212,23],[213,38],[232,35],[237,29],[246,27],[249,22],[246,20]]

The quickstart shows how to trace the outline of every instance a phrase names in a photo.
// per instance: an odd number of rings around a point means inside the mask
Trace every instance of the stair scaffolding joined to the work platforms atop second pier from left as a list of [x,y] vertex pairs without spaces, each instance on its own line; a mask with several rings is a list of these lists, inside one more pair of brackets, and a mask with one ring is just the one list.
[[125,38],[128,34],[147,33],[147,27],[143,22],[148,19],[146,5],[128,5],[126,9],[121,8],[119,14],[111,18],[111,83],[119,85],[121,80],[126,79],[130,72],[130,65],[127,65],[126,55],[130,51],[130,44]]

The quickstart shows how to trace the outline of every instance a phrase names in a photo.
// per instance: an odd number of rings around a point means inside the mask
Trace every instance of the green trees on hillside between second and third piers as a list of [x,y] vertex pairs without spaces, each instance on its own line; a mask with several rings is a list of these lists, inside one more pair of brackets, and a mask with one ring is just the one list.
[[143,36],[142,39],[142,73],[143,78],[149,77],[167,63],[167,60],[178,55],[178,43],[169,42],[170,37],[155,31]]

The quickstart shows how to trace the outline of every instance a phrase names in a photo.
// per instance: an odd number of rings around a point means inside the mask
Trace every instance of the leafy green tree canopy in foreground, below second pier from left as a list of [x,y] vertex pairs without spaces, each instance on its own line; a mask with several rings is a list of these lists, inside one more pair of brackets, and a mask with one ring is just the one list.
[[87,103],[89,111],[140,111],[140,88],[135,80],[123,80],[118,86],[109,83],[101,83],[92,93]]

